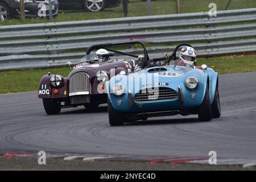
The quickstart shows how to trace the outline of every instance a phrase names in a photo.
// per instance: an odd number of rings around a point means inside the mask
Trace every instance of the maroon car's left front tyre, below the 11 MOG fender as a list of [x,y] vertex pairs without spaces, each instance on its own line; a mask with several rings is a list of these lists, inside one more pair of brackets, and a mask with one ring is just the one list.
[[52,98],[43,98],[44,110],[46,113],[51,114],[59,114],[61,110],[60,102],[52,99]]

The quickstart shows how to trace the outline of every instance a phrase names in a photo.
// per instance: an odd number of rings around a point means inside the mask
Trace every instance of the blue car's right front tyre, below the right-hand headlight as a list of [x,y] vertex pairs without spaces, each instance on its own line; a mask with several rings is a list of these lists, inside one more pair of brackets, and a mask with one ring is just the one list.
[[200,121],[210,121],[212,119],[212,108],[210,106],[209,86],[207,85],[204,100],[198,108],[198,117]]

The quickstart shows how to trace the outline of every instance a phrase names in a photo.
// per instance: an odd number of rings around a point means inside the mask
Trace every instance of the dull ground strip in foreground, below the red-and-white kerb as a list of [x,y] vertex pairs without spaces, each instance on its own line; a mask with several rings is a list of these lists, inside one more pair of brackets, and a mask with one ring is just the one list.
[[209,165],[209,164],[171,164],[169,163],[154,163],[148,162],[129,162],[118,160],[94,160],[83,161],[81,159],[63,160],[63,158],[47,158],[47,165],[38,165],[37,158],[13,157],[13,158],[0,158],[0,170],[3,171],[255,171],[256,167],[244,168],[242,165]]

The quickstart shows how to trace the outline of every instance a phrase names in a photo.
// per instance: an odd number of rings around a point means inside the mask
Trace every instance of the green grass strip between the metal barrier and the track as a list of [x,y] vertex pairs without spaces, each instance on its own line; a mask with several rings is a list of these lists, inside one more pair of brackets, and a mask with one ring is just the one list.
[[[197,64],[207,64],[219,74],[255,72],[256,56],[199,58]],[[62,67],[0,72],[0,94],[38,90],[40,78],[48,72],[67,77],[70,69]]]

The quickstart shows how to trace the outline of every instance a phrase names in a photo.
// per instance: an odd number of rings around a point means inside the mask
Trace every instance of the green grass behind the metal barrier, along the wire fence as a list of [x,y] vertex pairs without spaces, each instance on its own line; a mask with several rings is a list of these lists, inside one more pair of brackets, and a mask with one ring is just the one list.
[[[209,11],[209,3],[216,3],[217,10],[225,9],[228,0],[182,0],[181,12],[182,13],[195,13],[201,11]],[[256,7],[255,0],[234,0],[229,10],[232,9],[245,9]],[[76,11],[76,10],[74,10]],[[141,0],[131,0],[128,6],[128,16],[146,16],[147,15],[147,2]],[[151,15],[163,14],[176,14],[176,0],[156,0],[151,2]],[[11,19],[6,22],[0,22],[0,25],[10,24],[26,24],[26,23],[46,23],[46,22],[63,22],[74,20],[89,20],[89,19],[105,19],[105,18],[121,18],[123,17],[122,5],[119,7],[105,9],[100,12],[86,12],[80,11],[70,13],[67,11],[60,11],[59,16],[53,20],[44,18],[26,19],[26,22],[21,23],[19,19]]]

